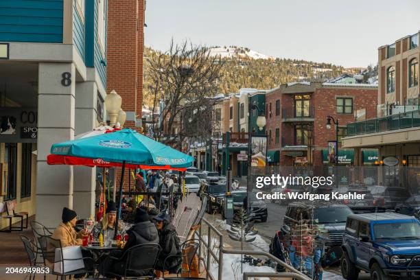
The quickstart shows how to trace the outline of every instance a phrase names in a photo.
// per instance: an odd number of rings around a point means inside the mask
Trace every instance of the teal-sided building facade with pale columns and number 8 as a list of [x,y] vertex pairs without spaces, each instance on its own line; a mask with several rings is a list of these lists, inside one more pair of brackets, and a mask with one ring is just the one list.
[[48,227],[62,207],[95,213],[95,168],[47,165],[47,155],[106,119],[107,12],[106,0],[0,6],[1,208],[16,199]]

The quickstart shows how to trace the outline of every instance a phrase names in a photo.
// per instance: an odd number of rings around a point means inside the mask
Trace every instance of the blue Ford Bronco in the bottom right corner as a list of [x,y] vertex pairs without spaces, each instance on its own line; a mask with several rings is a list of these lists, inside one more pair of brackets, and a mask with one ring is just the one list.
[[342,250],[345,279],[357,280],[360,270],[372,280],[420,279],[420,222],[409,215],[349,215]]

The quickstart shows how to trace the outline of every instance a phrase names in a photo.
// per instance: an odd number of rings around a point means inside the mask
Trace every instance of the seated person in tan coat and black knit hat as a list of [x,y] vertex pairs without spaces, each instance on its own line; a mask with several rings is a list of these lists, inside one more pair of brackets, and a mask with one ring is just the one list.
[[75,211],[64,207],[62,209],[60,224],[54,231],[52,238],[60,240],[62,247],[82,245],[82,237],[87,235],[85,230],[76,233],[74,230],[77,221],[77,214]]

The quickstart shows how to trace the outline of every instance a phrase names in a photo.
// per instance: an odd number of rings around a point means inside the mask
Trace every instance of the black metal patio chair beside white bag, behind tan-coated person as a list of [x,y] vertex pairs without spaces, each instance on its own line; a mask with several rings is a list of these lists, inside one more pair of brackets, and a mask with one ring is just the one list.
[[[91,257],[82,257],[77,259],[65,259],[62,254],[62,246],[60,240],[56,240],[51,236],[45,235],[38,237],[38,242],[40,244],[41,251],[43,253],[43,261],[44,265],[47,266],[47,261],[51,264],[56,264],[58,262],[62,263],[62,271],[65,271],[65,264],[66,261],[78,261],[83,260],[84,264],[90,263],[91,267],[95,267],[95,262]],[[56,248],[60,249],[60,260],[56,261]],[[54,269],[52,270],[53,275],[60,276],[61,279],[66,279],[67,276],[70,275],[84,275],[86,273],[94,274],[95,270],[87,270],[86,268],[80,268],[78,270],[71,270],[68,272],[56,272]]]

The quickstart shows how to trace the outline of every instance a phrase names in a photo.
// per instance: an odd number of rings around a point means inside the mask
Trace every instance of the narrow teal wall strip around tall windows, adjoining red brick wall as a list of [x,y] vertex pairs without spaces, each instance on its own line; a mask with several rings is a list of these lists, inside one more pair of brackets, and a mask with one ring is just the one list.
[[[105,12],[104,14],[107,15],[108,14],[108,1],[105,1]],[[105,38],[105,45],[104,46],[100,46],[99,43],[99,38],[97,36],[97,15],[98,15],[98,2],[95,1],[95,13],[94,13],[94,21],[93,21],[93,25],[94,25],[94,33],[93,33],[93,65],[95,66],[97,73],[99,74],[100,78],[101,78],[101,82],[104,85],[104,88],[106,89],[106,66],[102,63],[105,62],[106,63],[106,38]],[[108,21],[108,18],[106,16],[106,23]],[[107,33],[107,27],[108,24],[105,25],[105,34]]]

